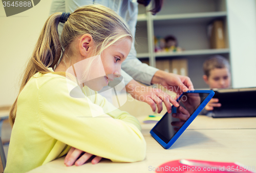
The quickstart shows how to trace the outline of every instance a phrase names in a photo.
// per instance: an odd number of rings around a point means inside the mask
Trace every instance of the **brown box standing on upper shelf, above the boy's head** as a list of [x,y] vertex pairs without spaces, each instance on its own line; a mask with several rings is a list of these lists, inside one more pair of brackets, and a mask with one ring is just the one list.
[[210,48],[226,48],[224,27],[222,20],[215,20],[208,26]]

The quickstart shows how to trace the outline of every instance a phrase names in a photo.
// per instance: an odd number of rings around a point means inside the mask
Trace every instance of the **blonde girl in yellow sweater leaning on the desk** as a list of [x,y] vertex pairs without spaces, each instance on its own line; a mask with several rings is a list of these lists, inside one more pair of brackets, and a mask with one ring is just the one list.
[[[59,22],[65,23],[60,40]],[[27,172],[67,154],[71,147],[96,155],[96,160],[135,162],[145,158],[138,120],[92,90],[120,76],[131,44],[132,34],[125,22],[104,6],[84,6],[70,15],[55,13],[48,18],[11,108],[13,129],[5,172]],[[79,62],[90,64],[77,71]],[[73,73],[66,73],[71,68]],[[101,72],[95,76],[95,71]],[[91,75],[93,85],[84,81]],[[78,85],[74,81],[79,76],[83,81],[77,80]],[[74,90],[77,86],[80,89]],[[93,112],[109,113],[93,117]]]

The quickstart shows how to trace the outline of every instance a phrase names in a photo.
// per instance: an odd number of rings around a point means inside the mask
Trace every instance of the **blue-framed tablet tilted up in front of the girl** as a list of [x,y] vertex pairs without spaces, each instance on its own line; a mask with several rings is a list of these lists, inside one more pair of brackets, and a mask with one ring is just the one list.
[[[156,126],[150,131],[153,138],[155,138],[164,149],[168,149],[202,111],[212,96],[214,96],[214,91],[212,90],[193,90],[182,93],[177,100],[182,108],[172,106],[172,113],[165,113]],[[185,112],[185,114],[182,113],[184,117],[186,117],[185,120],[173,117],[173,113],[180,115],[180,110]],[[179,123],[179,127],[177,124],[171,125],[172,122]]]

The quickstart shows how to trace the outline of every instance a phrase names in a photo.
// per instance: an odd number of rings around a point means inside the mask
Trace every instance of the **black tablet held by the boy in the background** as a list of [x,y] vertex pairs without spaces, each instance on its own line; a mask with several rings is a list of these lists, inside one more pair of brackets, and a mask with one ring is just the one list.
[[221,107],[207,113],[214,118],[256,116],[256,88],[212,89]]

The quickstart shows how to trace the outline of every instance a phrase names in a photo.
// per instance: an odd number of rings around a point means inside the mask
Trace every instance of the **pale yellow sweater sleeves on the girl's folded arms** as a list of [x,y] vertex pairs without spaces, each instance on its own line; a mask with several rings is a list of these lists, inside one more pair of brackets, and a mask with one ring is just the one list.
[[[111,159],[115,162],[135,162],[145,158],[146,143],[138,120],[118,109],[92,117],[92,112],[111,107],[102,96],[95,103],[79,90],[72,97],[65,79],[52,79],[39,88],[40,126],[53,138],[84,152]],[[74,94],[74,93],[73,93]]]

